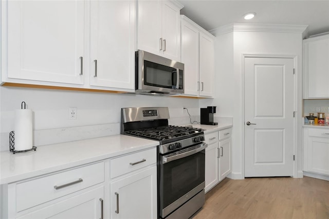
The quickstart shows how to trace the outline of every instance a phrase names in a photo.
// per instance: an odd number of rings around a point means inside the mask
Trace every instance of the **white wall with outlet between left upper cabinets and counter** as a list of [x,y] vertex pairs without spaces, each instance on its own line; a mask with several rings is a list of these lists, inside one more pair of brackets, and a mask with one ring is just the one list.
[[[14,109],[21,108],[22,101],[25,101],[27,108],[33,111],[34,132],[59,128],[62,133],[69,130],[62,129],[66,127],[118,124],[122,107],[168,106],[171,117],[169,122],[174,125],[190,122],[186,110],[182,109],[183,106],[189,109],[191,115],[199,115],[198,99],[2,86],[0,87],[1,151],[9,148],[9,132],[14,129]],[[70,106],[78,108],[76,120],[68,119]],[[119,125],[114,126],[114,129],[119,129]],[[113,133],[118,132],[119,130],[115,130]],[[85,135],[88,134],[88,132],[85,133]],[[108,132],[108,135],[111,133]],[[90,134],[90,136],[94,135]],[[40,138],[43,137],[40,136]],[[88,138],[88,136],[83,136],[83,138]],[[58,141],[61,142],[61,139]],[[39,139],[34,139],[34,142],[39,142]]]

